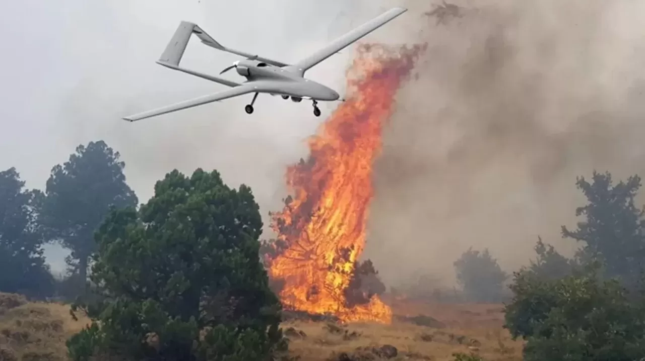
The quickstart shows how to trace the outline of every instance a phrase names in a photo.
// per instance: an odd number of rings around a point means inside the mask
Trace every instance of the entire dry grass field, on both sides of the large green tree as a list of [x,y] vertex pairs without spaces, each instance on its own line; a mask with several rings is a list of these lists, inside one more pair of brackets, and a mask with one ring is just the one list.
[[[521,360],[519,341],[502,329],[500,305],[393,302],[399,316],[426,315],[435,328],[398,320],[392,325],[284,322],[290,354],[302,361],[368,361],[388,358],[379,348],[397,349],[392,360],[453,360],[453,353],[476,353],[484,360]],[[0,361],[63,361],[65,341],[86,324],[69,306],[28,303],[0,295]],[[388,349],[392,349],[391,347]]]

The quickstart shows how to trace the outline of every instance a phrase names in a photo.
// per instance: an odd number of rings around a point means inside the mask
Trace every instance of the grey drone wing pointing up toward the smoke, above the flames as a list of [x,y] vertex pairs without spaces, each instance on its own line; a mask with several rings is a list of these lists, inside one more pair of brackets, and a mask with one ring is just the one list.
[[355,28],[351,32],[348,32],[345,35],[342,35],[341,37],[339,37],[332,43],[328,44],[321,50],[318,50],[312,55],[310,55],[309,57],[306,57],[306,59],[296,62],[295,64],[293,64],[292,68],[295,69],[295,71],[298,71],[299,73],[304,74],[305,71],[312,68],[319,62],[322,62],[328,57],[331,57],[333,54],[337,53],[338,51],[341,51],[342,49],[346,48],[353,42],[361,39],[368,33],[371,33],[374,30],[377,30],[384,24],[392,21],[395,17],[403,14],[406,11],[408,11],[408,9],[406,8],[392,8],[387,12],[384,12],[383,14],[368,21],[367,23],[362,24],[358,28]]

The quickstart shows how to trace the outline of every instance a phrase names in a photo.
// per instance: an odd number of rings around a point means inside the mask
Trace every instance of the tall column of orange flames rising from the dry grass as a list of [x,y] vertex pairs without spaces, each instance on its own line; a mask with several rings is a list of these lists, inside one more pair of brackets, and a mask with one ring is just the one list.
[[377,296],[350,304],[344,291],[365,246],[382,127],[420,50],[360,46],[348,72],[351,96],[309,139],[308,160],[288,167],[293,196],[272,214],[283,246],[269,261],[270,276],[283,282],[279,295],[286,308],[331,313],[343,321],[392,321],[392,310]]

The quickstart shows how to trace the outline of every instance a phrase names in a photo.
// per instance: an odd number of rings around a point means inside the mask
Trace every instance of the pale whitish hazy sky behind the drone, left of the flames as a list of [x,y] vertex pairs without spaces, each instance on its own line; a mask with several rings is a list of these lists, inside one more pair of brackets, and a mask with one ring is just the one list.
[[[46,0],[15,1],[0,12],[0,169],[17,167],[27,186],[43,188],[53,165],[79,143],[105,140],[122,154],[140,201],[174,168],[218,169],[252,186],[263,214],[284,196],[284,166],[306,155],[315,118],[308,102],[250,97],[130,124],[121,116],[219,91],[222,86],[155,64],[180,21],[193,21],[227,46],[286,62],[377,15],[381,1],[346,0]],[[339,88],[350,50],[308,76]],[[183,65],[211,73],[239,59],[194,39]],[[226,75],[235,79],[234,72]],[[342,95],[342,94],[341,94]],[[54,247],[55,248],[55,247]],[[54,269],[61,250],[49,248]]]

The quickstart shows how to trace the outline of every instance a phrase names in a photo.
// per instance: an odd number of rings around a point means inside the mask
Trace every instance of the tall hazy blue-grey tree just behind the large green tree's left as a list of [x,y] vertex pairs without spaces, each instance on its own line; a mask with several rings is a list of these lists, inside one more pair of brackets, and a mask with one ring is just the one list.
[[94,232],[110,207],[137,205],[126,184],[120,154],[99,140],[79,145],[68,162],[56,165],[46,183],[41,223],[48,237],[71,251],[68,264],[85,281],[90,255],[96,250]]

